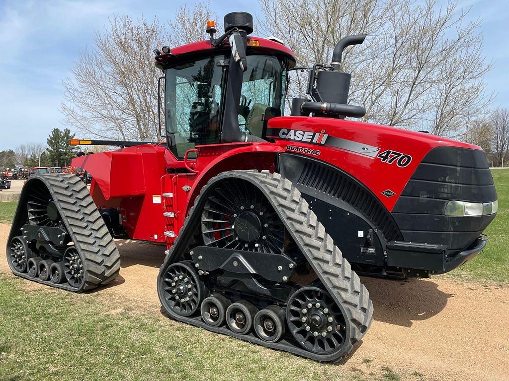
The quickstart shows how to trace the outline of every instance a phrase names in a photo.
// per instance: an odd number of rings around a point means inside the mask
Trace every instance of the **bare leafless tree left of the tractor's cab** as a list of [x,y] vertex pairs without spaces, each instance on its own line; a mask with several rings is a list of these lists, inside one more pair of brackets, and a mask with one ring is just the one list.
[[179,9],[168,27],[157,19],[137,22],[115,16],[95,35],[92,49],[80,52],[72,77],[64,81],[61,110],[73,131],[121,140],[159,140],[155,48],[205,38],[205,23],[215,17],[206,5]]

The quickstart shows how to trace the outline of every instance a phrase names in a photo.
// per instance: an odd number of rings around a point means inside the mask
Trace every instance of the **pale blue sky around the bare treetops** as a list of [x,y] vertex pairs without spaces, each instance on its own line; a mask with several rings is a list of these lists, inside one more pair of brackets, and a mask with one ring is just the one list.
[[[164,22],[183,4],[194,2],[0,0],[0,150],[28,141],[45,143],[52,128],[63,127],[61,82],[78,51],[93,45],[94,31],[104,29],[108,16],[136,19],[143,13]],[[256,0],[211,0],[210,6],[220,16],[259,10]],[[494,63],[486,77],[489,90],[497,93],[494,106],[509,107],[509,7],[506,0],[459,2],[459,8],[469,7],[470,19],[482,19],[484,54]]]

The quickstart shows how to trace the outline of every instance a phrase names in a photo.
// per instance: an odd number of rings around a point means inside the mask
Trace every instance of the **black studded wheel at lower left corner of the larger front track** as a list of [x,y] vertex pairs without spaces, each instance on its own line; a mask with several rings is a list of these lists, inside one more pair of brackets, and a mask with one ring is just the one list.
[[206,287],[189,261],[174,263],[164,274],[164,298],[169,309],[190,316],[200,308]]

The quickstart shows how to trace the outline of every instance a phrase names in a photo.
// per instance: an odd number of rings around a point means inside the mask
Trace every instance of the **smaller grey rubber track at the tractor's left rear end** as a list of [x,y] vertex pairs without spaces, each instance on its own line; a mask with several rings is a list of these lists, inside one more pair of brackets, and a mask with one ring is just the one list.
[[[32,175],[23,189],[30,190],[30,186],[27,185],[35,179],[42,181],[49,189],[70,238],[84,260],[84,282],[78,289],[68,283],[54,284],[39,278],[31,278],[26,273],[13,272],[24,278],[73,292],[92,290],[114,280],[120,271],[120,254],[90,196],[87,185],[73,174]],[[26,203],[21,204],[22,199],[23,195],[20,197],[18,208],[26,208]],[[16,210],[16,215],[19,212]],[[19,234],[16,215],[7,244],[12,237]]]

